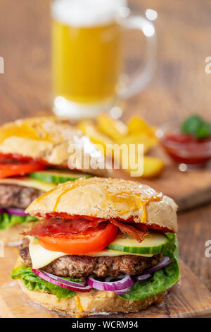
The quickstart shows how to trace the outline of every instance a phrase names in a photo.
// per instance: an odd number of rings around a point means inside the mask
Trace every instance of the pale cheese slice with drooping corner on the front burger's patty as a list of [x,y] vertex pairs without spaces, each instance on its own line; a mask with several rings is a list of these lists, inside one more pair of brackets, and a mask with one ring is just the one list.
[[[31,260],[32,260],[32,268],[35,268],[35,269],[43,268],[44,266],[48,265],[52,261],[55,261],[59,257],[68,255],[63,252],[50,251],[50,250],[44,249],[43,247],[41,247],[41,245],[39,243],[34,242],[33,237],[31,237],[31,239],[30,239],[29,250],[30,250],[30,256],[31,256]],[[134,255],[134,254],[126,253],[124,251],[110,250],[110,249],[104,249],[102,251],[93,252],[91,254],[86,254],[86,256],[93,256],[93,257],[98,257],[98,256],[114,257],[114,256],[123,256],[123,255]],[[153,256],[153,255],[140,255],[140,254],[135,254],[135,255],[144,256],[144,257]]]

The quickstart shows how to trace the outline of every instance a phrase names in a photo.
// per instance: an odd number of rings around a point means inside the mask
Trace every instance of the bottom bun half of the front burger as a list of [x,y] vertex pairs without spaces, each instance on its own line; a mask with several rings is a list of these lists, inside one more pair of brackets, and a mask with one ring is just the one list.
[[38,302],[46,309],[56,310],[71,317],[84,317],[94,314],[117,312],[137,312],[162,300],[162,293],[146,297],[141,301],[128,301],[118,297],[114,292],[91,290],[79,293],[68,299],[58,299],[56,295],[46,292],[28,290],[22,280],[18,280],[23,291],[31,300]]

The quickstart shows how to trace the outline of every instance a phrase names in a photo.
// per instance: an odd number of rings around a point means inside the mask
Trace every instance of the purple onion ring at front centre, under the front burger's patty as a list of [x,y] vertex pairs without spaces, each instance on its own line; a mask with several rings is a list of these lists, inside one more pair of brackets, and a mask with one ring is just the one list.
[[126,288],[130,288],[134,285],[134,280],[130,275],[119,275],[118,278],[121,279],[111,282],[102,282],[96,280],[94,275],[90,275],[87,283],[89,286],[96,288],[96,290],[110,290],[111,292],[115,292],[115,290],[125,290]]

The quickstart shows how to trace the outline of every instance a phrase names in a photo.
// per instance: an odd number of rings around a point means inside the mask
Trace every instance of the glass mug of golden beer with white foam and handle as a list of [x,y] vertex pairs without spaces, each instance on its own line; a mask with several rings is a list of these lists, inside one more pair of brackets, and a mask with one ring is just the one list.
[[[125,0],[55,0],[52,15],[53,112],[93,118],[117,100],[138,93],[155,65],[155,28],[142,16],[129,16]],[[125,29],[138,29],[148,40],[143,71],[122,83]]]

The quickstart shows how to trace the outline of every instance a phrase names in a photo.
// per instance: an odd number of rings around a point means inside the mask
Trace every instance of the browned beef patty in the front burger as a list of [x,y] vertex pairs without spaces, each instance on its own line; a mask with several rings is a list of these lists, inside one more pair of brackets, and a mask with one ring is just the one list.
[[[29,240],[23,239],[20,245],[20,256],[26,266],[32,266],[29,252]],[[106,277],[107,275],[116,277],[122,273],[136,275],[143,273],[146,268],[151,268],[162,259],[162,254],[152,257],[143,257],[136,255],[123,256],[63,256],[48,265],[41,268],[43,271],[63,277],[80,277],[84,278],[92,273],[98,277]]]

